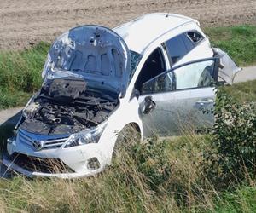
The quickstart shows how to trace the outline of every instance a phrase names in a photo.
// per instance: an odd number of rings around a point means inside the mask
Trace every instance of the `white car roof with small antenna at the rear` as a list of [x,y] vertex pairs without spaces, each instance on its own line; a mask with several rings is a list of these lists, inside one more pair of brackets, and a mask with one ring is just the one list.
[[113,28],[113,31],[123,37],[130,50],[141,54],[143,49],[155,39],[189,22],[195,22],[199,25],[197,20],[180,14],[145,14],[135,20]]

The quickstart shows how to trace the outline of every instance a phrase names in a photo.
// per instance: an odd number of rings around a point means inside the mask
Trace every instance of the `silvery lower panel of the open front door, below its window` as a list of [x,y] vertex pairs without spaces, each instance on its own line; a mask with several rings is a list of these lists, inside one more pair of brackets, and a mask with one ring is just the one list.
[[[142,106],[146,96],[148,95],[139,97]],[[154,112],[151,112],[148,116],[142,115],[143,123],[147,124],[143,126],[144,135],[148,137],[152,135],[179,135],[181,124],[183,130],[195,126],[195,122],[203,125],[211,124],[212,114],[207,114],[207,117],[201,118],[198,116],[199,113],[196,109],[196,101],[204,98],[215,100],[214,88],[194,89],[193,91],[188,89],[166,93],[166,95],[153,95],[153,100],[156,103]],[[191,110],[190,106],[192,104],[195,106]],[[212,101],[210,107],[213,107],[213,104]]]

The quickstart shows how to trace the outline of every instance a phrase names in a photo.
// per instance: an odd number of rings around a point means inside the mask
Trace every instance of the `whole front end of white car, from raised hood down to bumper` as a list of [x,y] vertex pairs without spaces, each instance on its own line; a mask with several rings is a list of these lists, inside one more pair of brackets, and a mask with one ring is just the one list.
[[[124,40],[103,26],[79,26],[49,49],[44,83],[8,140],[3,164],[26,176],[98,173],[111,159],[102,134],[130,76]],[[100,141],[103,142],[100,142]]]

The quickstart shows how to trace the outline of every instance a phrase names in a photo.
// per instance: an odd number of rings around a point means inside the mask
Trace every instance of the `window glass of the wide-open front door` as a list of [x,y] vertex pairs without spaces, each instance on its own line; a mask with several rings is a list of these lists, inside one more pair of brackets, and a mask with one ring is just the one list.
[[215,60],[203,60],[180,66],[143,84],[143,94],[212,85]]

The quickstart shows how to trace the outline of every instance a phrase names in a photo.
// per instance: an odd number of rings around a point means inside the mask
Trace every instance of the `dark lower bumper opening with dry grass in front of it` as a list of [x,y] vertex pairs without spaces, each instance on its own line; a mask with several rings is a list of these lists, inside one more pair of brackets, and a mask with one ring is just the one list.
[[31,172],[42,172],[49,174],[74,172],[57,158],[37,158],[21,153],[14,153],[9,158],[21,168]]

